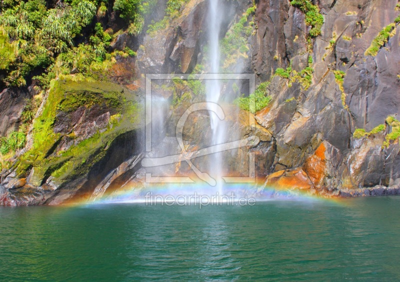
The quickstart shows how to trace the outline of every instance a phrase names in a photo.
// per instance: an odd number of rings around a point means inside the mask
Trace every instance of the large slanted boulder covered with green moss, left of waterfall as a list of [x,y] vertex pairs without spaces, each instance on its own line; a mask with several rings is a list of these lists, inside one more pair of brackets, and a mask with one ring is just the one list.
[[15,163],[16,176],[41,186],[50,177],[59,185],[86,173],[117,135],[138,126],[139,110],[117,84],[54,80],[33,122],[30,149]]

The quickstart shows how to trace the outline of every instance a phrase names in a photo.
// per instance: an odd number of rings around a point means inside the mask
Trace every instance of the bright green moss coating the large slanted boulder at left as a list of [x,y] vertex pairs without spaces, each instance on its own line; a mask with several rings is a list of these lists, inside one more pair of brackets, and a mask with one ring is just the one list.
[[[41,115],[33,121],[32,146],[26,153],[22,154],[15,163],[18,175],[25,174],[30,167],[33,166],[33,181],[36,179],[34,183],[40,185],[40,181],[43,177],[49,176],[53,171],[58,171],[66,162],[75,163],[76,159],[81,158],[76,149],[70,149],[75,154],[62,153],[61,155],[49,156],[52,150],[55,149],[58,140],[62,137],[60,133],[54,133],[53,131],[53,124],[57,112],[59,110],[73,111],[79,106],[90,107],[94,104],[117,107],[118,109],[128,112],[130,111],[129,107],[132,102],[122,98],[122,91],[122,87],[113,83],[99,81],[90,82],[86,80],[53,80],[48,91],[48,97],[43,111]],[[122,103],[122,101],[124,102]],[[132,110],[134,111],[135,109],[132,108]],[[126,114],[127,120],[125,120],[125,123],[118,123],[118,126],[108,129],[109,132],[115,133],[120,127],[126,128],[132,126],[132,120],[129,120],[130,114],[133,116],[135,113],[129,112],[129,114]],[[109,133],[98,133],[97,137],[93,136],[86,140],[94,141],[96,138],[102,139],[107,134]],[[83,144],[79,143],[77,146],[87,145],[88,142],[91,142],[86,140]],[[86,147],[87,154],[93,152],[92,148],[98,148],[98,142],[100,141],[97,140],[92,145]],[[79,153],[86,155],[86,152],[83,151]],[[76,167],[76,165],[74,167]]]

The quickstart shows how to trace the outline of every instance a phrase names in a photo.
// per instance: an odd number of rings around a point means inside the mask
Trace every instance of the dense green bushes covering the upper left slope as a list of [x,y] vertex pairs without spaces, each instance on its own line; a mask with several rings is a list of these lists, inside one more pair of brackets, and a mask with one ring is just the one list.
[[[33,78],[43,88],[51,79],[71,72],[98,79],[115,61],[113,56],[134,56],[130,49],[110,54],[113,31],[104,31],[100,22],[90,25],[96,13],[99,17],[105,15],[108,4],[103,0],[64,0],[55,6],[44,0],[3,3],[0,69],[5,70],[5,78],[0,86],[23,86],[32,73],[39,73]],[[155,4],[156,0],[115,0],[108,8],[126,21],[129,33],[137,35]],[[82,37],[88,40],[77,44]]]

